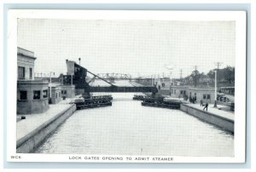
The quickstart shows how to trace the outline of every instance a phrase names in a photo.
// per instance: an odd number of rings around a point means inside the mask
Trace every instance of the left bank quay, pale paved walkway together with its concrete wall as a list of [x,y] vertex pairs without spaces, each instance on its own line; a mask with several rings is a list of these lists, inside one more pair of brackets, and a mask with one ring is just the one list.
[[[61,100],[49,105],[49,110],[40,114],[18,115],[16,123],[16,152],[33,152],[55,129],[76,111],[71,100]],[[20,119],[21,116],[26,119]]]

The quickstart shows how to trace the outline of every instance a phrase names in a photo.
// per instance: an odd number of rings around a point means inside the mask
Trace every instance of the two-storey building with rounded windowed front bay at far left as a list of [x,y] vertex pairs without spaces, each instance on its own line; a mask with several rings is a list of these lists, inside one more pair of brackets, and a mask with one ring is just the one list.
[[17,49],[17,114],[42,113],[49,109],[48,84],[42,79],[34,79],[32,51]]

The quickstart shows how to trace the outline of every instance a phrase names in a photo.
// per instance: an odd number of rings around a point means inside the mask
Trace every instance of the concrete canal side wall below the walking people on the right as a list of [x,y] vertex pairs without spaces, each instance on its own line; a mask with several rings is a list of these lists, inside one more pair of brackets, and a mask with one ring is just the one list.
[[202,121],[205,121],[207,123],[211,123],[213,125],[218,126],[219,128],[222,128],[226,131],[230,131],[234,133],[234,121],[230,120],[228,118],[219,117],[211,112],[202,111],[199,109],[196,109],[194,107],[181,105],[180,109],[183,112],[188,113],[189,115],[192,115],[196,118],[201,119]]

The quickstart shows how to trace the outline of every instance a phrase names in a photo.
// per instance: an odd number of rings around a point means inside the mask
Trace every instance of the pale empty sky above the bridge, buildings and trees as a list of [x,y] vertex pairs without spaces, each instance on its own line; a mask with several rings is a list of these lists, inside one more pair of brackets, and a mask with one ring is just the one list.
[[66,74],[66,60],[79,58],[90,72],[132,77],[235,66],[235,21],[19,19],[17,37],[37,57],[35,72],[56,77]]

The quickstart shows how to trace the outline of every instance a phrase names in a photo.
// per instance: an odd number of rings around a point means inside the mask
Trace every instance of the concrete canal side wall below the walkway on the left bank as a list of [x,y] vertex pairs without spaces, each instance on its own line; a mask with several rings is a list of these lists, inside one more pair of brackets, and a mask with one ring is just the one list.
[[38,126],[28,135],[20,138],[16,142],[17,153],[29,153],[33,152],[40,146],[45,138],[57,129],[67,118],[69,118],[73,112],[76,111],[76,106],[70,106],[62,112],[58,113],[54,118]]

